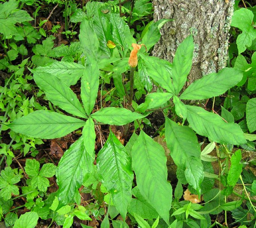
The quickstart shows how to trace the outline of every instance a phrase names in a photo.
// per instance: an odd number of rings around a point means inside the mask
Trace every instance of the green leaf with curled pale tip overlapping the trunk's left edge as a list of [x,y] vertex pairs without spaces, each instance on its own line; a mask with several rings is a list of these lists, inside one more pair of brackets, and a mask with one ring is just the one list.
[[143,36],[142,41],[141,41],[141,43],[147,47],[147,50],[149,50],[151,47],[153,47],[158,42],[158,40],[161,37],[159,29],[162,28],[162,26],[168,21],[171,21],[171,20],[160,19],[159,21],[150,25],[149,30]]

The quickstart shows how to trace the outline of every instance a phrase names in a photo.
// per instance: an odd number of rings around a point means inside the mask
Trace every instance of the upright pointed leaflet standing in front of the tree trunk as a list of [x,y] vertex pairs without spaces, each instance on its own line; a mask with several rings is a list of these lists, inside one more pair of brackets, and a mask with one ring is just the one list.
[[173,58],[173,85],[175,94],[178,95],[184,86],[192,66],[194,43],[193,37],[188,36],[176,50]]

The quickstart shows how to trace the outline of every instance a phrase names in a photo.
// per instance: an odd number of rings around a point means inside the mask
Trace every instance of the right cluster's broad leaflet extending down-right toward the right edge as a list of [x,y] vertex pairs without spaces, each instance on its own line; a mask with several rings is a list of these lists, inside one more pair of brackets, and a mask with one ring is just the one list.
[[189,124],[199,135],[219,143],[246,144],[244,133],[238,124],[226,123],[219,115],[207,112],[201,107],[186,107]]

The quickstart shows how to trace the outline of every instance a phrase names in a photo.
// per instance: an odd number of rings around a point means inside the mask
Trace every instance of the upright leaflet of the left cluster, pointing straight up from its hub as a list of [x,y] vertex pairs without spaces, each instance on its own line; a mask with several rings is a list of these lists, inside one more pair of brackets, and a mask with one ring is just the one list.
[[98,95],[100,70],[97,62],[87,56],[86,68],[81,79],[81,98],[87,115],[90,115]]

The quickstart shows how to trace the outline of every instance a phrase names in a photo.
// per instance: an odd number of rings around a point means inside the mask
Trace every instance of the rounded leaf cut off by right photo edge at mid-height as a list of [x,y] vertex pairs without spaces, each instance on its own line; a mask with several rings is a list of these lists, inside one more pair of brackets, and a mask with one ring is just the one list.
[[256,98],[250,99],[246,104],[246,122],[250,132],[256,130]]

